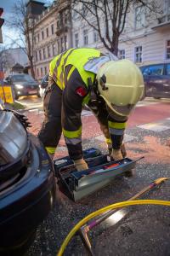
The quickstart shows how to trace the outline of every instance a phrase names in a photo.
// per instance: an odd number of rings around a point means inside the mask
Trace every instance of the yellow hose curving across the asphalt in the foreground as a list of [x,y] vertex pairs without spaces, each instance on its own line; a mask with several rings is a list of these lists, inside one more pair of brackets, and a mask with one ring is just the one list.
[[170,207],[170,201],[161,201],[161,200],[122,201],[107,207],[100,208],[96,212],[92,212],[85,218],[82,218],[82,220],[79,223],[77,223],[76,226],[74,226],[74,228],[70,231],[70,233],[65,237],[65,241],[63,241],[61,247],[59,248],[59,253],[57,253],[57,256],[63,255],[63,253],[65,252],[65,247],[68,245],[69,241],[71,241],[72,236],[74,236],[77,230],[79,230],[83,224],[86,224],[89,219],[94,218],[99,214],[106,212],[108,210],[113,210],[113,209],[122,208],[122,207],[129,207],[134,205],[161,205],[161,206]]

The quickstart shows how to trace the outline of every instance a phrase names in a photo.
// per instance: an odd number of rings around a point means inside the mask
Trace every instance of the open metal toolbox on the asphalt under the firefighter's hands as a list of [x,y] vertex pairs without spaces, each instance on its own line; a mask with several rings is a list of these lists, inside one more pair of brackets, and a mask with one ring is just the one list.
[[116,176],[128,174],[137,161],[129,158],[111,161],[108,155],[101,154],[98,148],[84,150],[83,157],[88,163],[88,170],[81,172],[77,172],[68,156],[54,161],[59,188],[73,201],[79,201],[101,189]]

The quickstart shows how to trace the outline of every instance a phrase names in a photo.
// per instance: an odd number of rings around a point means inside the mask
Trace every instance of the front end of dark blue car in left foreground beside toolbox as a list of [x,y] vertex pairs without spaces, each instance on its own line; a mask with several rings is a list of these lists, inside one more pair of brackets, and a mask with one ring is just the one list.
[[0,255],[23,255],[55,201],[54,165],[24,116],[0,109]]

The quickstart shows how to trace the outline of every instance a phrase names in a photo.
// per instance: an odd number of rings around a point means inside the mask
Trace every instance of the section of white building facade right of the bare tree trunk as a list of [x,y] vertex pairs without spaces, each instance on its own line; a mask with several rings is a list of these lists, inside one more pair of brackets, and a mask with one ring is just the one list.
[[170,0],[160,3],[162,13],[158,18],[147,17],[141,6],[135,7],[127,16],[128,26],[119,42],[122,58],[139,66],[170,61]]

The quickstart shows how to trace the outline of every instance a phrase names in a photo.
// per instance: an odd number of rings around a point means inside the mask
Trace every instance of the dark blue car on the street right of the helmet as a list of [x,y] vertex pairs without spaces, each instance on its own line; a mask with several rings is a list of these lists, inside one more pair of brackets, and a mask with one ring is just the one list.
[[170,98],[170,63],[139,67],[144,76],[144,96]]

